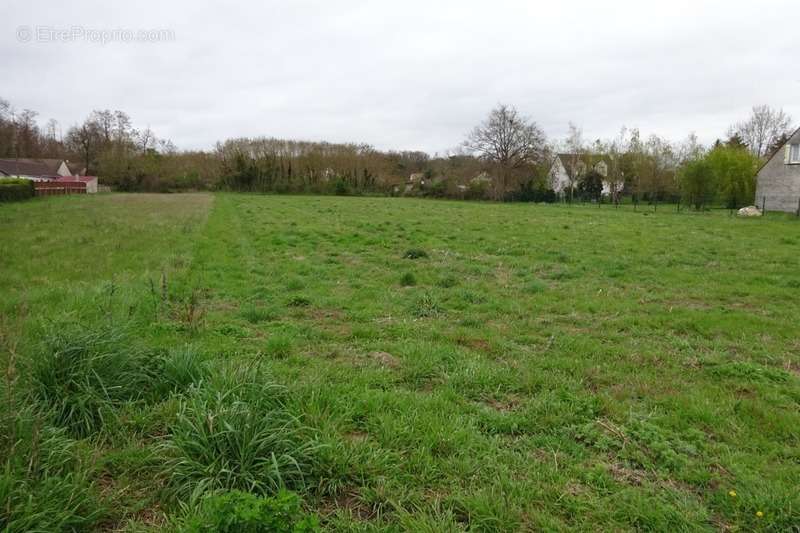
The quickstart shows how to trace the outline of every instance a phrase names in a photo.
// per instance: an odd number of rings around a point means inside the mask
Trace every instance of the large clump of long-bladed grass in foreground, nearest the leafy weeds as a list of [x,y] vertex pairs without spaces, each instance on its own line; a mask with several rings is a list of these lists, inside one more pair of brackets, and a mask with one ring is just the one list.
[[176,494],[195,499],[238,489],[265,495],[302,486],[318,445],[284,396],[278,385],[236,373],[194,387],[164,444]]

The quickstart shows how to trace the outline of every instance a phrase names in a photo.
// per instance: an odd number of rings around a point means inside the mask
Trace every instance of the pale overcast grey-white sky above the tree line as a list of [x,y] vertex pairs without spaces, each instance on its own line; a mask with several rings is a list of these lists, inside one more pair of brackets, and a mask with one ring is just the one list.
[[710,142],[754,104],[800,119],[796,0],[658,4],[3,0],[0,97],[65,130],[121,109],[186,149],[264,135],[441,153],[498,102],[554,139],[571,120],[587,139]]

